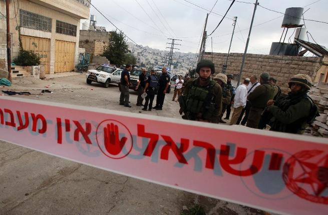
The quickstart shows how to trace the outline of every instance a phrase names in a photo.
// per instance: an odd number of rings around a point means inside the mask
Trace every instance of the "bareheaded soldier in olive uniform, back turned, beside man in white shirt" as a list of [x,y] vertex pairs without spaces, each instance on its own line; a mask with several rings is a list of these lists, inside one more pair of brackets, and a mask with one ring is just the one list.
[[247,118],[247,127],[258,128],[261,113],[266,107],[266,102],[274,96],[274,87],[270,84],[269,78],[269,73],[262,72],[260,75],[261,84],[247,96],[247,100],[251,104]]

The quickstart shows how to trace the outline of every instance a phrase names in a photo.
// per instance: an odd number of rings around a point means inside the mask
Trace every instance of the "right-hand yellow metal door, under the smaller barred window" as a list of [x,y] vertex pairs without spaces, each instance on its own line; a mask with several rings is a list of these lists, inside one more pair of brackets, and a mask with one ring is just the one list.
[[56,40],[55,72],[74,70],[75,42]]

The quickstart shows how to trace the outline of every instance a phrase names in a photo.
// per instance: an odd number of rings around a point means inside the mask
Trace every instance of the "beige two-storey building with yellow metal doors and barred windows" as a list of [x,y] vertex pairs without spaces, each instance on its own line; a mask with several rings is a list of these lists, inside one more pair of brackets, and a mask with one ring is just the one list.
[[[0,66],[7,62],[6,1],[0,0]],[[90,15],[88,0],[10,0],[12,59],[22,45],[41,57],[45,73],[72,71],[78,63],[80,19]]]

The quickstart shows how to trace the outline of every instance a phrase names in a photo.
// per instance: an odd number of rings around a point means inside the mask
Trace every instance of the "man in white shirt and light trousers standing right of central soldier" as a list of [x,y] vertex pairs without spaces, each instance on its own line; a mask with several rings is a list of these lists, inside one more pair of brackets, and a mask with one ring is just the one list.
[[236,124],[240,116],[241,110],[246,106],[247,100],[247,85],[249,84],[249,78],[245,78],[244,82],[240,84],[236,89],[236,94],[233,101],[233,113],[231,116],[230,124]]

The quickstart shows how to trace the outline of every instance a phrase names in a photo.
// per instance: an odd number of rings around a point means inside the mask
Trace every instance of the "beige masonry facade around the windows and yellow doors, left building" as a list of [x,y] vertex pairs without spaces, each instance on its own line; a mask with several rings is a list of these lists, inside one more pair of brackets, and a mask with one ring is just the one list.
[[[19,4],[16,4],[16,11],[17,11],[17,22],[20,23],[20,13],[19,9],[24,9],[30,12],[38,13],[47,17],[52,18],[52,32],[46,32],[46,31],[41,31],[41,30],[35,30],[31,28],[26,28],[26,27],[21,27],[21,34],[22,35],[29,35],[29,36],[36,36],[36,37],[44,37],[44,38],[50,38],[51,39],[51,51],[50,51],[50,73],[55,72],[55,44],[56,40],[64,40],[64,41],[71,41],[75,42],[75,64],[78,63],[79,59],[79,36],[80,36],[80,20],[79,18],[82,16],[76,15],[79,13],[69,13],[69,11],[65,10],[65,13],[63,13],[63,9],[58,9],[57,6],[59,3],[62,2],[61,5],[67,5],[67,4],[72,4],[75,7],[79,7],[83,12],[88,12],[88,14],[83,14],[84,18],[89,17],[89,7],[81,4],[80,2],[76,0],[45,0],[45,2],[41,2],[39,0],[35,0],[34,2],[30,0],[20,0]],[[37,2],[37,3],[36,3]],[[51,5],[54,3],[54,5]],[[45,5],[49,6],[46,7]],[[57,5],[57,6],[56,6]],[[19,7],[19,8],[18,8]],[[51,8],[50,8],[51,7]],[[0,8],[3,12],[3,8],[6,8],[6,3],[4,1],[0,1]],[[65,7],[62,7],[65,8]],[[70,9],[69,7],[68,9]],[[66,8],[65,8],[66,9]],[[6,13],[6,10],[4,11]],[[3,13],[4,13],[3,12]],[[4,14],[5,14],[4,13]],[[14,10],[14,3],[11,1],[10,3],[10,13],[11,13],[11,32],[12,32],[12,59],[14,59],[18,54],[19,54],[19,49],[20,49],[20,44],[19,44],[19,33],[18,30],[16,29],[17,23],[15,17],[15,10]],[[75,17],[74,17],[75,16]],[[74,25],[77,25],[77,35],[76,36],[71,36],[71,35],[66,35],[66,34],[61,34],[61,33],[56,33],[56,20],[60,21],[65,21]],[[6,20],[0,19],[0,44],[6,44],[7,39],[6,39]],[[0,58],[2,58],[2,46],[0,45]],[[6,51],[7,53],[7,51]],[[7,54],[6,54],[7,55]],[[7,58],[7,56],[6,56]]]

